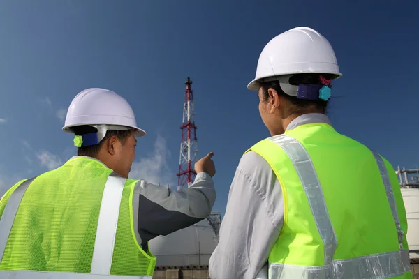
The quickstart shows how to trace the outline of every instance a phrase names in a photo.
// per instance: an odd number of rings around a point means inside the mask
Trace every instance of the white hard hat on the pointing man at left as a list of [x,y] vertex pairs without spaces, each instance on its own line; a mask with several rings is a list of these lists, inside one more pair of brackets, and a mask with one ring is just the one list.
[[135,137],[145,135],[145,131],[137,127],[131,105],[122,96],[107,89],[85,89],[75,96],[68,107],[63,130],[74,133],[71,128],[86,125],[98,130],[98,142],[105,137],[107,130],[133,129]]

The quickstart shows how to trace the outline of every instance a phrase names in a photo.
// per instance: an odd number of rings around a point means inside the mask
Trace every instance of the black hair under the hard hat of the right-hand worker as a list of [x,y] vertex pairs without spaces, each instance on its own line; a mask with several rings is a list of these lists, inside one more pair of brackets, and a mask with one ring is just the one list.
[[[297,74],[290,77],[289,83],[291,85],[321,84],[320,76],[323,76],[328,80],[331,80],[336,77],[336,75],[332,74]],[[262,87],[264,100],[267,100],[269,98],[269,94],[267,93],[267,91],[270,88],[277,91],[279,96],[282,96],[284,99],[286,99],[286,102],[288,103],[287,109],[289,114],[302,114],[306,112],[309,108],[314,108],[316,111],[322,114],[326,114],[328,111],[329,100],[306,100],[298,99],[295,96],[289,96],[281,89],[281,86],[279,86],[279,82],[277,80],[274,80],[272,82],[259,82],[259,85]]]

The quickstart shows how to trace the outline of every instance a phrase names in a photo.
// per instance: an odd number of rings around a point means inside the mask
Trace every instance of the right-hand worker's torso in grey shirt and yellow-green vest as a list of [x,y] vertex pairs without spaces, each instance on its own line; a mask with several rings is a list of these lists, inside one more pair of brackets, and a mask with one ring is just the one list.
[[[399,262],[388,180],[381,176],[385,170],[391,179],[395,212],[406,232],[390,164],[379,156],[387,165],[382,169],[372,151],[337,133],[323,114],[305,114],[288,127],[285,135],[259,142],[240,160],[210,275],[254,278],[267,262],[272,278],[346,273],[377,278],[409,270],[409,259],[406,266]],[[244,211],[244,204],[251,206]],[[330,273],[332,266],[339,274]]]

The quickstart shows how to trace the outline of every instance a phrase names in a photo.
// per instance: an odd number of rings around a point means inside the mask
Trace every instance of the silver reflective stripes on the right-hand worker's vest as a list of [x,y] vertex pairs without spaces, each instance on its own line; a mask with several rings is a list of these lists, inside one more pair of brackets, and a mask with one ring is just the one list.
[[311,158],[300,142],[293,137],[282,134],[271,137],[270,140],[281,147],[295,167],[300,177],[304,192],[306,194],[311,213],[316,222],[318,233],[324,244],[324,266],[295,266],[290,264],[270,264],[270,278],[390,278],[402,276],[404,272],[410,271],[409,251],[402,250],[402,229],[399,226],[399,218],[395,207],[395,200],[392,186],[388,176],[387,168],[381,156],[374,151],[374,158],[381,173],[381,178],[387,191],[389,203],[395,219],[395,225],[399,234],[400,250],[382,254],[365,255],[352,259],[335,260],[335,249],[337,239],[329,217],[328,209],[323,197],[320,182],[311,162]]

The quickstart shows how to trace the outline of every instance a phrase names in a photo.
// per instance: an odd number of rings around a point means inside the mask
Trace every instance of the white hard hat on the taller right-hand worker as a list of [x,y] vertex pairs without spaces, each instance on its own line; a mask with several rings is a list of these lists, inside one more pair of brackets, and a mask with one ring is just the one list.
[[[258,91],[258,82],[272,80],[278,80],[282,88],[289,77],[302,73],[332,74],[334,78],[342,76],[329,41],[308,27],[296,27],[270,40],[260,53],[256,77],[247,88]],[[292,92],[285,92],[297,96],[298,86],[292,87],[289,88]]]

